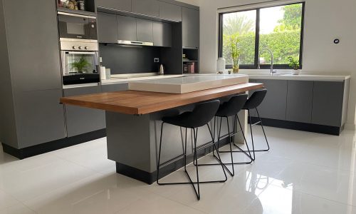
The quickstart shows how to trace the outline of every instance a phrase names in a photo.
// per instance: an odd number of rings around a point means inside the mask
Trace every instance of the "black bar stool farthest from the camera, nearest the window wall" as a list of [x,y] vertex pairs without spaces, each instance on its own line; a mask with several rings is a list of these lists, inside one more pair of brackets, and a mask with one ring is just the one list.
[[[242,108],[242,109],[247,110],[247,112],[248,112],[248,122],[250,123],[250,131],[251,131],[253,161],[256,160],[255,152],[269,151],[269,149],[270,149],[269,144],[268,144],[268,140],[267,140],[267,137],[266,137],[266,133],[265,133],[265,130],[263,128],[263,123],[261,121],[260,114],[258,113],[258,110],[257,110],[257,107],[261,105],[263,99],[266,97],[266,93],[267,93],[267,89],[266,88],[263,88],[261,90],[253,92],[251,97],[248,98],[248,100],[246,101],[244,108]],[[252,109],[256,109],[256,113],[257,113],[257,116],[258,116],[257,123],[252,123],[251,113],[250,113],[250,111]],[[254,142],[253,142],[252,126],[255,126],[255,125],[258,125],[258,124],[261,124],[263,135],[265,136],[265,139],[266,139],[266,144],[267,144],[267,148],[266,149],[259,149],[259,150],[255,149],[255,145],[254,145]]]

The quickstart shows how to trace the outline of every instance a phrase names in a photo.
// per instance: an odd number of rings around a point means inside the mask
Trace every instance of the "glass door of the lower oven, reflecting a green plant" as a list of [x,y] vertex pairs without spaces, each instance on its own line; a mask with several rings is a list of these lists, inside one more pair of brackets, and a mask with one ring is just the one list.
[[98,73],[98,51],[62,51],[63,76]]

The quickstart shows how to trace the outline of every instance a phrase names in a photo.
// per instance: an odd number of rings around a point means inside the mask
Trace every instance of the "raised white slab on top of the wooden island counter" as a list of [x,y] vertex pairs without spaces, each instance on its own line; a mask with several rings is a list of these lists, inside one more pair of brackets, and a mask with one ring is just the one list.
[[189,93],[211,88],[248,83],[247,75],[192,75],[174,78],[159,78],[145,81],[132,81],[129,89],[163,93]]

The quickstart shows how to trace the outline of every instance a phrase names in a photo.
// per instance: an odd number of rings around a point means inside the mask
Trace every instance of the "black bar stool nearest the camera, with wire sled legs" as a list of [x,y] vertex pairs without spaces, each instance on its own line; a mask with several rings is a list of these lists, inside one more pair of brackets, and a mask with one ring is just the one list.
[[[198,200],[200,200],[200,188],[199,184],[200,183],[223,183],[227,180],[226,172],[224,170],[224,165],[221,162],[221,158],[218,154],[218,160],[221,165],[221,168],[224,172],[225,179],[224,180],[209,180],[209,181],[199,181],[199,171],[198,171],[198,165],[196,165],[196,170],[197,170],[197,182],[193,182],[192,178],[190,178],[189,173],[187,172],[187,129],[191,128],[193,130],[194,134],[194,161],[198,161],[197,158],[197,151],[200,151],[204,148],[213,146],[213,148],[216,149],[216,145],[214,143],[214,136],[211,133],[211,128],[209,126],[209,122],[214,118],[216,111],[218,110],[220,105],[220,101],[209,101],[209,102],[204,102],[204,103],[199,103],[197,106],[195,106],[194,110],[192,112],[184,112],[182,114],[179,114],[178,116],[173,116],[173,117],[164,117],[162,118],[162,126],[161,126],[161,137],[159,141],[159,154],[158,154],[158,163],[157,163],[157,184],[158,185],[177,185],[177,184],[192,184],[194,191],[197,195]],[[177,158],[174,158],[170,161],[166,161],[165,163],[160,163],[161,160],[161,148],[162,148],[162,134],[163,134],[163,125],[164,123],[168,123],[174,126],[179,126],[182,128],[185,128],[185,146],[184,146],[184,171],[187,174],[187,177],[189,179],[189,182],[180,182],[180,183],[159,183],[159,168],[162,167],[162,165],[167,165],[171,163],[172,161],[175,161]],[[198,135],[198,128],[201,126],[208,126],[209,128],[209,133],[211,136],[211,142],[205,143],[204,145],[199,146],[197,148],[197,135]],[[215,126],[215,124],[214,124]],[[194,184],[197,184],[197,188],[195,188]]]

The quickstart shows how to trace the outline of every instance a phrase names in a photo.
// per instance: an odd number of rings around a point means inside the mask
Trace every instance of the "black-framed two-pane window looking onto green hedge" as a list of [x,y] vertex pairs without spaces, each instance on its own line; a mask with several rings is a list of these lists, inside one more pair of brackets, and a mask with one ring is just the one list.
[[[290,68],[289,57],[301,68],[303,14],[304,3],[219,14],[219,57],[232,68],[231,41],[237,41],[240,68],[257,68],[258,54],[265,48],[273,52],[274,68]],[[259,60],[261,68],[270,68],[268,51],[261,51]]]

